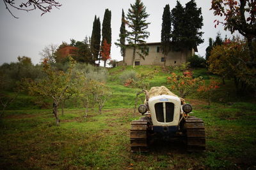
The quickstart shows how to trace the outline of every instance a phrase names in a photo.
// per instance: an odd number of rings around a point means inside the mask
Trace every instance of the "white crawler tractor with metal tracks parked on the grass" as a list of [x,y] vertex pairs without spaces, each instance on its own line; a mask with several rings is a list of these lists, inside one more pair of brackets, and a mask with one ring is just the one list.
[[[131,151],[148,152],[150,139],[177,138],[186,143],[188,152],[205,152],[205,128],[200,118],[190,116],[192,106],[166,87],[152,87],[138,111],[140,120],[131,122]],[[136,107],[136,105],[135,105]]]

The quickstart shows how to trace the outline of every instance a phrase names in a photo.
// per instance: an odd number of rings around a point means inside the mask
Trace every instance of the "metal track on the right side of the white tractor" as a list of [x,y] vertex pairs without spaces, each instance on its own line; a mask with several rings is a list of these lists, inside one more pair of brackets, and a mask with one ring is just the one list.
[[204,121],[196,117],[185,120],[188,152],[205,152]]

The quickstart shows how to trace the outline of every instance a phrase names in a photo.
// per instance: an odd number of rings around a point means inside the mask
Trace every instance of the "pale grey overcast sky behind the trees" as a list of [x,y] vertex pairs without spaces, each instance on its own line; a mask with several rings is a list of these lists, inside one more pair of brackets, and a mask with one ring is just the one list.
[[[174,0],[142,0],[145,4],[146,11],[150,16],[148,26],[150,32],[148,43],[161,41],[161,24],[163,8],[166,4],[170,4],[172,9],[176,5]],[[180,0],[182,6],[185,6],[189,0]],[[20,2],[20,1],[18,1]],[[122,60],[120,49],[115,46],[116,39],[118,39],[119,29],[121,25],[122,8],[125,14],[127,13],[130,4],[135,0],[72,0],[61,1],[62,6],[60,10],[53,8],[51,13],[46,13],[42,17],[41,11],[18,11],[10,8],[13,14],[18,19],[13,18],[12,15],[5,9],[3,1],[0,1],[0,64],[4,62],[16,62],[17,57],[27,56],[31,57],[34,64],[40,62],[41,56],[39,53],[42,49],[50,44],[60,45],[62,41],[70,43],[70,39],[83,41],[85,36],[92,35],[92,25],[95,15],[100,17],[100,23],[104,17],[106,8],[111,10],[111,28],[112,28],[112,46],[111,58]],[[222,36],[231,36],[230,32],[224,31],[223,26],[219,25],[217,29],[214,28],[213,21],[217,18],[213,15],[211,8],[211,0],[196,0],[198,8],[202,8],[202,15],[204,17],[204,43],[198,46],[198,54],[205,55],[205,48],[209,45],[209,38],[215,38],[216,32],[220,31]]]

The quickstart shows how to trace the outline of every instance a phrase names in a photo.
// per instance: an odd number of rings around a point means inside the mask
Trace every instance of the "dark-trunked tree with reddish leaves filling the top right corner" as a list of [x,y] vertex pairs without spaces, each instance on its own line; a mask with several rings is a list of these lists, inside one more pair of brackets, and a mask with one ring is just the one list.
[[221,23],[225,30],[232,33],[238,31],[247,39],[250,60],[245,62],[248,66],[256,66],[253,48],[253,39],[256,38],[256,1],[212,0],[211,10],[214,10],[214,15],[225,17],[224,21],[214,20],[216,25]]

